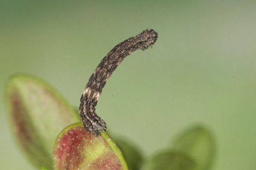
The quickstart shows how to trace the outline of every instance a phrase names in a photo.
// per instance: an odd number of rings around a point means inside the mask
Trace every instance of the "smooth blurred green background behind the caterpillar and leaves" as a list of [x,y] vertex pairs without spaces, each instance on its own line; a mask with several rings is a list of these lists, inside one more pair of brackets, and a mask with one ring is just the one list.
[[0,1],[0,169],[30,170],[15,144],[4,85],[15,73],[45,79],[74,106],[101,59],[146,28],[152,48],[125,58],[96,107],[111,133],[145,156],[202,123],[212,170],[256,169],[256,1]]

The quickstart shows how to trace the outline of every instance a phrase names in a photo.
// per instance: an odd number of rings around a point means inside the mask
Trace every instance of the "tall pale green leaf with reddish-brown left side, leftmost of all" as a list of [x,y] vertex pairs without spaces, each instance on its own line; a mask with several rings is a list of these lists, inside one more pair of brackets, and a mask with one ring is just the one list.
[[6,88],[9,119],[29,161],[52,169],[52,148],[58,133],[80,122],[79,116],[46,82],[28,75],[9,79]]

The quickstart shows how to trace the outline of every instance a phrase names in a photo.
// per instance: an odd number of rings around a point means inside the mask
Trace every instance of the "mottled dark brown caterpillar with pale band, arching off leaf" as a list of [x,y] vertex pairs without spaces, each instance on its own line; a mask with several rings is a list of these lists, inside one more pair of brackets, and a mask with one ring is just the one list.
[[99,100],[102,88],[117,65],[126,56],[137,49],[144,50],[148,48],[156,40],[157,32],[147,29],[136,37],[120,42],[102,59],[91,75],[80,99],[79,114],[85,130],[91,131],[95,136],[99,136],[102,131],[107,130],[105,122],[95,113],[95,106]]

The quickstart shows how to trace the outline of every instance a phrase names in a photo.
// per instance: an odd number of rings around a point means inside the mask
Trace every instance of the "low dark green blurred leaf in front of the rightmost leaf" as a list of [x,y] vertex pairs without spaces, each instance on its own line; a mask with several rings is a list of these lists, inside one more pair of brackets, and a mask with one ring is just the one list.
[[141,170],[197,170],[195,161],[188,156],[166,151],[143,163]]

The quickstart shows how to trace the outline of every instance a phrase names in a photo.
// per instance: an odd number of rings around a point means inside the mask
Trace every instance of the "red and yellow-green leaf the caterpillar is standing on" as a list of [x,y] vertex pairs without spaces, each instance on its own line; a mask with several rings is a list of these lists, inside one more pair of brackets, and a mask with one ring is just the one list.
[[106,132],[84,130],[82,123],[66,127],[53,149],[55,170],[128,170],[121,151]]

